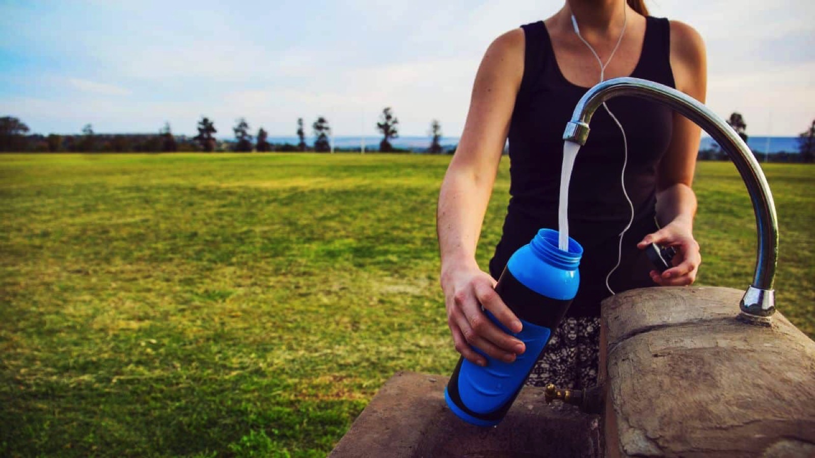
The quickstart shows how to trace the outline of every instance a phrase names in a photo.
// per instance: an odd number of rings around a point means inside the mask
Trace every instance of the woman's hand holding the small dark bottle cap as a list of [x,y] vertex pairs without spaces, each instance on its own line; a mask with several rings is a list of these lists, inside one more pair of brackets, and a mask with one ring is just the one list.
[[659,231],[645,236],[637,244],[637,248],[645,249],[652,243],[676,249],[676,255],[672,259],[673,267],[661,275],[659,271],[650,271],[654,283],[660,286],[685,286],[694,283],[699,264],[702,263],[702,255],[699,254],[699,244],[694,240],[689,224],[675,220]]

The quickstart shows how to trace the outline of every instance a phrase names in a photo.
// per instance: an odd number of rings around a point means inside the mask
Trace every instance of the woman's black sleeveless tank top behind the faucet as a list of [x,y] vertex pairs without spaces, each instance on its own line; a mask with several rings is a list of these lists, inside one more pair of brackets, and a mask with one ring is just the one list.
[[[562,134],[588,88],[563,77],[542,21],[522,26],[526,35],[524,73],[509,127],[510,188],[504,231],[490,261],[498,278],[512,253],[542,227],[557,229],[563,159]],[[674,87],[670,64],[670,23],[646,18],[645,40],[632,77]],[[623,237],[622,262],[610,286],[615,293],[654,286],[650,262],[637,242],[657,229],[654,222],[656,169],[672,134],[670,108],[644,99],[617,97],[608,102],[628,138],[625,187],[634,205],[634,222]],[[610,296],[606,275],[617,263],[619,233],[631,210],[623,196],[623,136],[600,108],[588,141],[577,155],[569,192],[569,235],[584,247],[580,288],[568,316],[600,314]]]

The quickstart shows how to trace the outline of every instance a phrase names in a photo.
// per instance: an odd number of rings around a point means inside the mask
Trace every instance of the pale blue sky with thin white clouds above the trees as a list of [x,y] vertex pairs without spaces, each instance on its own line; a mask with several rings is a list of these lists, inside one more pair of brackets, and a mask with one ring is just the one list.
[[[752,135],[794,135],[815,118],[815,3],[650,1],[707,42],[707,104]],[[391,106],[403,134],[430,120],[457,136],[483,51],[562,2],[0,0],[0,116],[34,132],[220,134],[237,117],[291,135],[328,117],[337,135],[376,134]]]

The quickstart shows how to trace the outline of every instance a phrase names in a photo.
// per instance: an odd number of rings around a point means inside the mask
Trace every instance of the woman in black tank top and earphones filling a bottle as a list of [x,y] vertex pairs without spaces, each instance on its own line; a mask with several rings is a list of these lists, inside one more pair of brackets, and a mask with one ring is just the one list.
[[[498,37],[482,59],[465,130],[438,198],[447,323],[456,350],[473,363],[487,363],[474,349],[508,362],[525,350],[482,307],[520,331],[493,289],[496,278],[538,229],[557,229],[562,132],[601,75],[649,79],[704,102],[704,45],[688,25],[649,17],[642,0],[567,0],[547,20]],[[607,106],[627,144],[610,113],[597,110],[569,196],[570,236],[584,246],[580,288],[530,384],[596,384],[601,300],[629,288],[692,284],[701,262],[690,187],[700,130],[650,101],[619,97]],[[475,248],[508,138],[511,199],[487,273],[475,261]],[[661,275],[642,251],[652,242],[677,250],[672,268]]]

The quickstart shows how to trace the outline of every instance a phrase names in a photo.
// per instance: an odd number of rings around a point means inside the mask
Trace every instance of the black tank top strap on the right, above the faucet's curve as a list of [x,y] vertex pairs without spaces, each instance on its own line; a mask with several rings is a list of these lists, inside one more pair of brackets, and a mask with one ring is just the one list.
[[635,77],[676,87],[671,69],[671,22],[667,18],[645,17],[645,41]]

